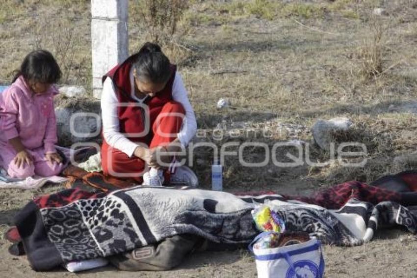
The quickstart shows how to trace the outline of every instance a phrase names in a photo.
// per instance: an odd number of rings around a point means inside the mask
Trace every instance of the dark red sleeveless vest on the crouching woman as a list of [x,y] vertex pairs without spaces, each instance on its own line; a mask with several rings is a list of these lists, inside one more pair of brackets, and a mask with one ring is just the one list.
[[[120,132],[125,134],[125,136],[133,142],[149,143],[150,137],[152,136],[152,124],[162,107],[172,100],[172,85],[174,83],[177,67],[171,64],[171,77],[165,87],[157,92],[154,97],[151,98],[148,96],[145,99],[143,104],[149,108],[149,111],[145,114],[146,109],[138,106],[138,102],[131,97],[130,69],[136,59],[137,54],[132,55],[123,63],[112,68],[103,76],[102,82],[104,83],[107,77],[113,81],[114,89],[119,100],[117,111],[119,115]],[[143,133],[145,129],[144,117],[148,117],[150,120],[149,130],[147,131],[146,136],[138,136],[137,134]]]

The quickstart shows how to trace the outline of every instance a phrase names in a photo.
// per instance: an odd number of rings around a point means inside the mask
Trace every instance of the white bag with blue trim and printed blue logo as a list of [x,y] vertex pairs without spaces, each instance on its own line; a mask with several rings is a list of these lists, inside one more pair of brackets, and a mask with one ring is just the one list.
[[250,244],[254,253],[258,278],[322,278],[324,259],[320,241],[284,247],[256,249],[253,245],[271,232],[263,232]]

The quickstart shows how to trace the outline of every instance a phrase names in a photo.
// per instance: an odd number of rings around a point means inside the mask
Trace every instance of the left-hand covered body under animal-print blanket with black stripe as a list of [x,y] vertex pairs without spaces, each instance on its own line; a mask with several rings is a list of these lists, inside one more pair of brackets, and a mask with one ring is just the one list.
[[247,243],[256,236],[252,205],[204,190],[134,187],[109,195],[66,190],[31,201],[16,216],[35,270],[123,253],[176,234]]

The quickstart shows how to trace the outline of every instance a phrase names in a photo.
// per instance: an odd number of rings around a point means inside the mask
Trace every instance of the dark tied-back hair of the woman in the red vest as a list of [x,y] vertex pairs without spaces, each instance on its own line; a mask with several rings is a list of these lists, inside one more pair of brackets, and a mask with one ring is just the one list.
[[171,76],[170,61],[155,43],[147,42],[141,47],[133,67],[137,77],[146,82],[162,84]]

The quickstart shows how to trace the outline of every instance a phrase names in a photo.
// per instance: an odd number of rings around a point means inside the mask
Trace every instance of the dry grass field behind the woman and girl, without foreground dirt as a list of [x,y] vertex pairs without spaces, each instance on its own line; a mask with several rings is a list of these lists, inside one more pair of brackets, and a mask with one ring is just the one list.
[[[56,56],[59,49],[73,44],[75,54],[61,51],[69,55],[67,60],[72,57],[67,66],[68,82],[89,87],[89,1],[70,2],[60,0],[52,8],[46,5],[50,1],[8,2],[8,11],[0,12],[0,82],[10,80],[10,72],[36,46],[36,38],[44,36],[42,42]],[[180,31],[178,36],[174,34],[177,44],[164,50],[179,64],[199,128],[211,130],[224,123],[227,129],[235,125],[243,131],[266,127],[275,132],[271,138],[256,139],[243,132],[237,139],[227,136],[216,140],[210,135],[206,140],[218,146],[233,140],[259,140],[268,146],[293,138],[309,142],[308,130],[316,119],[347,116],[355,126],[348,137],[342,135],[339,140],[364,142],[369,151],[364,168],[337,163],[249,168],[241,167],[235,157],[227,157],[227,190],[289,190],[296,186],[294,190],[303,191],[347,179],[369,181],[412,167],[394,167],[392,161],[396,155],[415,151],[416,116],[400,108],[413,104],[417,97],[417,10],[410,1],[394,0],[384,4],[390,16],[372,18],[377,5],[380,2],[376,0],[190,1],[190,9],[176,26]],[[130,53],[147,39],[136,7],[131,4]],[[33,14],[42,16],[27,17]],[[67,21],[63,15],[73,18]],[[68,28],[77,30],[69,41],[65,40]],[[66,67],[65,62],[60,63]],[[219,98],[228,98],[232,107],[217,110]],[[295,135],[286,129],[297,125],[305,129]],[[278,159],[287,151],[295,150],[281,150]],[[245,159],[261,161],[262,153],[259,148],[248,148]],[[328,155],[311,149],[313,161],[326,161]],[[212,156],[212,150],[201,148],[193,159],[204,186],[210,184]]]

